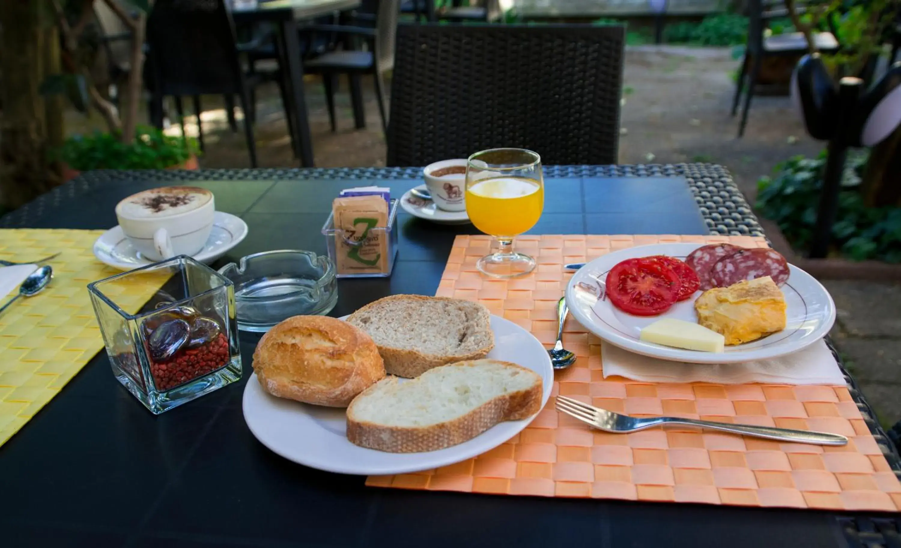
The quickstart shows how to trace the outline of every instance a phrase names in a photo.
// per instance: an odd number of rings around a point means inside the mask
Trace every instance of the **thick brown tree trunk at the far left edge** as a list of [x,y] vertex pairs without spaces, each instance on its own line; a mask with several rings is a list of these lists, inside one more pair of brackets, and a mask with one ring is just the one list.
[[[0,1],[3,116],[0,118],[0,203],[16,208],[59,184],[50,172],[48,114],[54,137],[61,133],[61,109],[48,108],[39,88],[48,61],[59,58],[59,40],[43,1]],[[14,55],[10,53],[14,52]]]

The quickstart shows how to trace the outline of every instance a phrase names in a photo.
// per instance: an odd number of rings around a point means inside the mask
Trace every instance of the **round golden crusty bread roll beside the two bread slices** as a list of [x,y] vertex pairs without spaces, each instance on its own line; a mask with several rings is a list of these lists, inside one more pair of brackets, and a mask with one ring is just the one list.
[[253,353],[253,369],[273,396],[336,408],[385,376],[372,338],[326,316],[295,316],[269,329]]

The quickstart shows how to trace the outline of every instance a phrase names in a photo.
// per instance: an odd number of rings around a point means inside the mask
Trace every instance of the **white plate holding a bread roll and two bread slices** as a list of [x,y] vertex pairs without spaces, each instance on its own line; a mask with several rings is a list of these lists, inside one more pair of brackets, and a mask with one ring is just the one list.
[[[503,444],[551,396],[525,329],[468,301],[396,295],[345,319],[296,317],[264,336],[244,390],[250,431],[288,460],[393,474]],[[387,376],[386,376],[387,373]]]

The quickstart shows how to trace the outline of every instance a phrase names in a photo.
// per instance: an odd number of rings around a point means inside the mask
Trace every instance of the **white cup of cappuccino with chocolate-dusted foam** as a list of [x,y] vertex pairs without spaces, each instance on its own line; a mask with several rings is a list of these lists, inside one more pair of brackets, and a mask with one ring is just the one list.
[[196,255],[213,230],[213,193],[196,186],[164,186],[132,194],[115,216],[132,246],[151,261]]

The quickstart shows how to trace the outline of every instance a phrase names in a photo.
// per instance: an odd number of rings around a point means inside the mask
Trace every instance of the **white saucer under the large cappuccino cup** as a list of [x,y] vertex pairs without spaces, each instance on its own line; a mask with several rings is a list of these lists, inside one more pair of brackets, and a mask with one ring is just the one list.
[[[241,243],[247,236],[247,223],[231,213],[216,211],[214,213],[213,230],[206,245],[194,258],[201,263],[209,264],[225,255],[232,247]],[[154,261],[145,258],[125,237],[122,227],[116,225],[97,238],[94,242],[94,256],[105,265],[119,270],[132,270],[140,266],[150,265]]]

